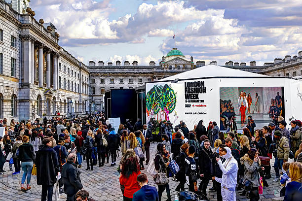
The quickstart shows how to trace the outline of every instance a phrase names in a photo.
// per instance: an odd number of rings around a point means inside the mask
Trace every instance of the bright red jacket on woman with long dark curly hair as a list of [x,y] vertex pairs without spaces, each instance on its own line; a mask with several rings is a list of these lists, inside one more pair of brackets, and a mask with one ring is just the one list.
[[124,196],[127,198],[132,198],[133,194],[141,189],[141,187],[137,183],[137,176],[141,173],[141,171],[133,172],[128,178],[121,175],[119,177],[120,185],[125,187]]

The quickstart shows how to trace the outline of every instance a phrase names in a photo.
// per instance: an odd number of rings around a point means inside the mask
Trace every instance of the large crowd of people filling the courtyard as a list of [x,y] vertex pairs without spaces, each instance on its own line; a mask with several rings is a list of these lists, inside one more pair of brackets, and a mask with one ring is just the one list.
[[[0,174],[5,172],[6,162],[9,171],[14,166],[13,175],[20,174],[22,168],[20,190],[26,192],[36,169],[41,201],[52,200],[55,184],[67,195],[67,201],[92,201],[82,190],[79,169],[83,161],[86,171],[97,165],[102,168],[105,163],[115,167],[121,153],[117,171],[124,201],[160,201],[164,191],[171,201],[169,177],[179,182],[176,191],[184,191],[187,184],[189,191],[203,200],[208,200],[207,187],[212,181],[210,191],[217,193],[218,201],[235,200],[240,189],[240,195],[258,201],[268,186],[266,180],[273,177],[269,161],[274,160],[273,182],[284,185],[280,197],[295,201],[302,196],[302,123],[291,121],[290,130],[286,126],[281,117],[262,129],[250,124],[240,136],[236,130],[220,132],[216,122],[205,127],[200,120],[190,131],[183,121],[174,128],[162,121],[161,142],[156,154],[150,156],[153,135],[140,119],[134,125],[120,124],[117,131],[103,113],[72,120],[11,120],[9,126],[4,119],[0,120],[0,127],[5,128],[5,135],[0,137]],[[289,158],[294,162],[289,163]],[[150,174],[158,190],[148,185],[148,177],[141,171],[146,165],[148,173],[155,172]],[[247,180],[249,186],[245,186]]]

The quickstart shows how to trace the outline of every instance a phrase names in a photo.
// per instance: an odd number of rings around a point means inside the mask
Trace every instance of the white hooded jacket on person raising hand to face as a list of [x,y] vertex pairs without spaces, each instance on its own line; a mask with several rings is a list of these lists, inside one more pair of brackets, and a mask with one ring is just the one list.
[[222,163],[221,160],[218,161],[218,165],[223,172],[221,186],[226,186],[227,188],[235,188],[237,184],[238,164],[232,156],[230,148],[225,148],[227,149],[227,154],[222,156],[226,159],[225,163]]

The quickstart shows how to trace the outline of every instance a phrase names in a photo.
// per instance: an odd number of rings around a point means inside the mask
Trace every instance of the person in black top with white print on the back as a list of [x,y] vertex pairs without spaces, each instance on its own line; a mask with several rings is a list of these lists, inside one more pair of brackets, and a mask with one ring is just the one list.
[[187,180],[187,184],[189,185],[189,191],[191,192],[198,191],[196,162],[194,160],[195,151],[196,151],[195,146],[191,144],[189,147],[189,155],[185,160],[186,180]]

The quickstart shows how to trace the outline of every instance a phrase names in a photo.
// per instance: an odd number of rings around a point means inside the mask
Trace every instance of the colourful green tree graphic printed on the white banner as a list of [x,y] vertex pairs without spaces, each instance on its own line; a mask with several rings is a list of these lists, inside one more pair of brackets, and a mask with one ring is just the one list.
[[148,118],[157,115],[156,119],[164,117],[165,120],[169,120],[169,114],[173,112],[175,106],[176,94],[168,84],[154,85],[146,95]]

